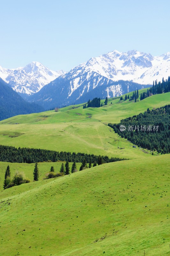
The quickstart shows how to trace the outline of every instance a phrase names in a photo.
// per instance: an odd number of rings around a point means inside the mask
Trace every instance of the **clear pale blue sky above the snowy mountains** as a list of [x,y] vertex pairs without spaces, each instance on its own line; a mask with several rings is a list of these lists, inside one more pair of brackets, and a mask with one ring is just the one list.
[[0,65],[69,71],[118,50],[170,51],[168,0],[0,0]]

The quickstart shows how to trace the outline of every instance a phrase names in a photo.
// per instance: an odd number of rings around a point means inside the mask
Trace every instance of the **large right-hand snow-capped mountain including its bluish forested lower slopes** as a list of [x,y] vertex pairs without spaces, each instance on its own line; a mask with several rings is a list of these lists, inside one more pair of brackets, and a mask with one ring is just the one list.
[[149,87],[170,75],[170,53],[113,51],[70,70],[30,97],[45,108],[81,103],[93,97],[115,97]]

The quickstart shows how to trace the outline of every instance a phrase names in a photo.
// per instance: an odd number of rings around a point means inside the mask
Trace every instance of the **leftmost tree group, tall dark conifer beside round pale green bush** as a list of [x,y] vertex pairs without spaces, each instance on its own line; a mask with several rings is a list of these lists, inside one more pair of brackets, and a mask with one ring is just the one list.
[[11,178],[11,171],[9,165],[5,171],[5,179],[4,179],[4,189],[11,188],[13,186],[18,186],[23,183],[29,183],[31,180],[26,178],[24,172],[15,172],[13,178]]

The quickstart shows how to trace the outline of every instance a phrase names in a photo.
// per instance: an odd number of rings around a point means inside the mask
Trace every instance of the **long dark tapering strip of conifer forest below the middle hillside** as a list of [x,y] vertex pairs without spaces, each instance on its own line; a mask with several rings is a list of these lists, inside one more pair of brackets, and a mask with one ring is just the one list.
[[[125,158],[101,156],[103,163],[126,160]],[[12,146],[0,145],[0,161],[10,163],[36,163],[36,162],[51,162],[68,161],[82,163],[86,159],[87,163],[97,163],[99,156],[85,153],[70,153],[65,151],[53,151],[47,149],[36,148],[15,148]]]

